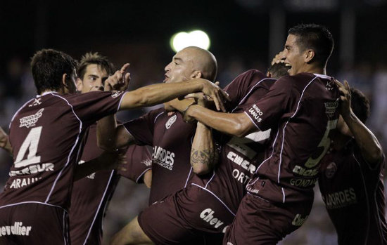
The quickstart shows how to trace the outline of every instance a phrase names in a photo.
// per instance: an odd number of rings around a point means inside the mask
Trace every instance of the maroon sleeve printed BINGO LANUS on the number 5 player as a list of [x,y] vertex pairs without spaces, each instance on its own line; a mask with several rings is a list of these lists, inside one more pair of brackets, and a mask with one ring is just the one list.
[[291,80],[288,76],[282,77],[263,98],[245,107],[244,112],[260,131],[276,127],[279,119],[291,108],[293,95],[296,95]]

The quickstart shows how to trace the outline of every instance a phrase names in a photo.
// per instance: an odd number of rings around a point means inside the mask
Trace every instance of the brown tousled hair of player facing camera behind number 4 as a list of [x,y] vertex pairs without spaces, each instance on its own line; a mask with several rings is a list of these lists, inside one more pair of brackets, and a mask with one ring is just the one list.
[[114,73],[113,64],[103,55],[100,55],[98,52],[96,53],[85,53],[80,61],[80,65],[78,66],[77,74],[80,79],[83,79],[84,74],[86,73],[86,68],[88,65],[99,65],[102,69],[104,69],[109,75]]

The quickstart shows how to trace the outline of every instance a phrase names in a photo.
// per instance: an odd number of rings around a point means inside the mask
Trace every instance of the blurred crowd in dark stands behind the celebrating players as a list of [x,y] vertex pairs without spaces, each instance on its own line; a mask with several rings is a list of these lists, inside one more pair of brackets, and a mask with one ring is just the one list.
[[[109,57],[110,58],[110,57]],[[117,61],[114,58],[110,60]],[[156,60],[156,61],[155,61]],[[131,67],[132,81],[129,89],[138,88],[163,80],[163,64],[169,60],[147,60],[142,65]],[[163,62],[163,63],[162,63]],[[260,60],[246,62],[239,57],[221,57],[217,80],[221,86],[226,86],[234,77],[247,69],[265,71],[266,62]],[[120,64],[116,64],[120,65]],[[148,69],[146,65],[153,68]],[[336,72],[327,71],[329,75],[339,81],[346,79],[351,87],[360,89],[371,101],[371,117],[367,126],[372,129],[386,154],[387,150],[387,65],[369,62],[359,62],[355,65],[345,64]],[[0,73],[0,126],[8,132],[8,124],[13,114],[27,100],[34,98],[36,91],[30,60],[21,56],[14,56],[6,60],[6,65]],[[118,119],[127,121],[146,113],[146,110],[125,112],[118,115]],[[8,169],[12,159],[4,151],[0,151],[0,185],[4,186],[8,178]],[[387,183],[386,183],[387,184]],[[385,185],[386,185],[385,184]],[[117,232],[120,227],[131,220],[148,203],[148,190],[143,185],[136,185],[130,180],[121,180],[118,190],[110,202],[104,221],[105,237]],[[307,222],[297,232],[286,237],[281,244],[336,244],[336,234],[331,225],[319,192],[316,192],[315,206]]]

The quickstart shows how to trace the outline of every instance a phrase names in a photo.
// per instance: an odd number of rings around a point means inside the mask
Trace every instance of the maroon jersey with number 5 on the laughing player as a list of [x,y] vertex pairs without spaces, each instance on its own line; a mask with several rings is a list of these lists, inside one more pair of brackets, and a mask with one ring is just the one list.
[[277,129],[256,178],[247,185],[250,194],[274,203],[312,204],[319,161],[336,128],[338,98],[331,77],[300,73],[281,77],[264,98],[245,110],[261,131]]

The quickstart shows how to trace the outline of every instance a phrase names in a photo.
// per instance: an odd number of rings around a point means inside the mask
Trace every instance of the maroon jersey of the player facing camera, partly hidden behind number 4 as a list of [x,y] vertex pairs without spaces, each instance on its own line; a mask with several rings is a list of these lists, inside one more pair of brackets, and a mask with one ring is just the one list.
[[[102,152],[96,141],[96,124],[93,124],[78,164],[94,159]],[[69,213],[72,244],[101,244],[103,214],[120,176],[141,183],[141,176],[151,168],[151,154],[146,147],[132,145],[126,155],[126,171],[97,171],[74,182]]]

